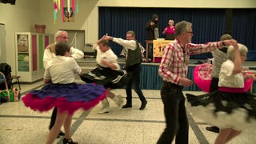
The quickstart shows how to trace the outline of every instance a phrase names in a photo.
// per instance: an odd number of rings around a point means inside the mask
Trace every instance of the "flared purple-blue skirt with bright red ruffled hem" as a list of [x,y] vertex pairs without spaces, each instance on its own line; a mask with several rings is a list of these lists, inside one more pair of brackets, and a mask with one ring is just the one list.
[[74,114],[74,111],[80,108],[89,110],[105,97],[105,88],[94,83],[48,83],[41,90],[30,91],[22,98],[22,102],[35,111],[43,112],[57,107],[60,111]]

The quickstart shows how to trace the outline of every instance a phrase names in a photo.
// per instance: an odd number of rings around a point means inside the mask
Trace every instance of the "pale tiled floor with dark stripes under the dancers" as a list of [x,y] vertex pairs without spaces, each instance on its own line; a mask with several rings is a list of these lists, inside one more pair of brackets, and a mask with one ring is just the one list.
[[[78,80],[78,82],[80,82]],[[42,82],[33,85],[22,84],[22,94],[41,88]],[[114,90],[125,98],[125,90]],[[141,102],[134,95],[133,107],[118,110],[110,100],[110,113],[98,114],[101,104],[90,111],[79,110],[74,114],[71,128],[72,138],[81,144],[154,144],[165,128],[162,100],[159,90],[143,90],[148,105],[138,110]],[[187,92],[185,92],[187,93]],[[189,92],[201,94],[201,92]],[[22,102],[8,102],[0,105],[0,143],[42,144],[49,132],[51,110],[38,113],[25,107]],[[217,134],[207,131],[206,122],[194,118],[188,112],[190,121],[190,144],[214,143]],[[256,127],[256,126],[255,126]],[[253,144],[256,130],[242,133],[231,144]],[[54,143],[62,143],[57,138]]]

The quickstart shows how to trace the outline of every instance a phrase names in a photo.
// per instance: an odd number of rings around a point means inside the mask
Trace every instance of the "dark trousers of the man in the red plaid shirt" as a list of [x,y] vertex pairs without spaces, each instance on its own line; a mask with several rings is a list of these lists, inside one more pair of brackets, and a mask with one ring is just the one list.
[[158,144],[169,144],[173,141],[174,136],[176,136],[176,144],[188,143],[189,124],[182,88],[182,86],[170,82],[162,82],[161,98],[166,117],[166,129],[158,139]]

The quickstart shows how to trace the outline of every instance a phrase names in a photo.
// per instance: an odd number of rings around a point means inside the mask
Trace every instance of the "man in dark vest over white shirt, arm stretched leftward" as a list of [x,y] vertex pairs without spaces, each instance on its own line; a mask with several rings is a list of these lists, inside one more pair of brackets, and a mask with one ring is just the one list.
[[104,39],[112,40],[113,42],[122,45],[127,51],[125,70],[128,74],[132,75],[130,82],[126,85],[126,105],[122,108],[132,107],[132,93],[131,88],[134,86],[135,92],[138,94],[139,99],[142,101],[142,106],[139,110],[143,110],[146,107],[146,98],[142,94],[142,90],[139,87],[140,71],[142,63],[142,54],[138,42],[135,40],[135,33],[132,30],[127,31],[126,40],[122,38],[113,38],[111,36],[103,36]]

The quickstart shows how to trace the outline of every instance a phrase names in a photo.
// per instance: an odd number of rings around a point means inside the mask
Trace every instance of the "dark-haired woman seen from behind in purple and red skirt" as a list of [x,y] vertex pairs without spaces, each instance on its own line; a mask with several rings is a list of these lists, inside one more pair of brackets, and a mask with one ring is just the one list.
[[54,142],[59,131],[64,126],[63,143],[74,144],[70,136],[70,126],[73,114],[79,108],[89,110],[106,96],[103,86],[95,84],[74,83],[75,74],[81,74],[81,67],[70,58],[70,46],[66,42],[58,42],[55,46],[56,58],[51,59],[46,66],[42,90],[32,90],[22,98],[25,106],[40,112],[57,107],[57,118],[50,129],[47,144]]

